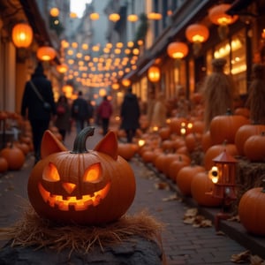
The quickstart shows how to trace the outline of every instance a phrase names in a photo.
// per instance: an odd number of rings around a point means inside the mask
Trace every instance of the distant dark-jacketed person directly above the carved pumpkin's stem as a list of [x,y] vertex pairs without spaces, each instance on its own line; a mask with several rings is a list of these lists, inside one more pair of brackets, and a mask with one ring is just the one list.
[[84,129],[88,117],[87,101],[83,98],[82,91],[79,91],[78,98],[72,102],[72,118],[75,121],[77,134]]

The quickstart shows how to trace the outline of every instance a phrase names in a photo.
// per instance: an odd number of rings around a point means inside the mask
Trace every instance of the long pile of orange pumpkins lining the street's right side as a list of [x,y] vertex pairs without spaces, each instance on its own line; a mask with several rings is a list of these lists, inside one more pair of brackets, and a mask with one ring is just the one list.
[[[186,133],[181,134],[184,125]],[[144,163],[152,164],[158,172],[170,178],[184,196],[192,196],[194,201],[204,207],[219,207],[223,201],[208,193],[214,187],[208,178],[208,171],[214,165],[213,159],[225,149],[229,155],[242,157],[250,163],[264,162],[264,132],[265,125],[252,124],[249,110],[245,108],[214,117],[206,133],[201,118],[171,117],[170,123],[158,132],[141,136],[146,144],[138,149],[138,154]],[[194,159],[198,156],[199,159]],[[244,201],[249,200],[246,197],[251,198],[250,194],[253,193],[257,193],[257,188],[243,194],[239,203],[239,216],[242,216],[241,223],[247,231],[265,235],[262,224],[265,217],[261,218],[260,215],[259,218],[252,218],[256,216],[254,208],[245,207]],[[265,188],[259,189],[258,196],[262,196],[264,205]],[[254,201],[252,203],[255,204]],[[261,208],[258,211],[262,213]],[[259,221],[253,222],[254,225],[250,227],[251,222],[245,220],[250,218]]]

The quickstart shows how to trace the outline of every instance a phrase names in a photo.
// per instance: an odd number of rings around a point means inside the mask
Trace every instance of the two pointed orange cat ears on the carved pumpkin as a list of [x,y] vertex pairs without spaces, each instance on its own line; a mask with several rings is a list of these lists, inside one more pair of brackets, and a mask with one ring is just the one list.
[[[77,136],[78,137],[78,136]],[[86,143],[84,143],[86,144]],[[110,155],[113,159],[117,160],[117,136],[114,132],[107,133],[102,140],[94,148],[95,151]],[[41,157],[42,159],[48,155],[68,151],[64,144],[57,139],[57,137],[46,130],[42,137]]]

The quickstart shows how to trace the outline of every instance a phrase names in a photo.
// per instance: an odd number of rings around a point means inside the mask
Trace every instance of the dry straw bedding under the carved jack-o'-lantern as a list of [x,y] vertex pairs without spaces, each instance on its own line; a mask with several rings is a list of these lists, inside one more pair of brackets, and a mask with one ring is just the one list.
[[28,208],[23,218],[13,226],[0,230],[0,239],[11,240],[11,246],[49,247],[57,252],[64,249],[88,253],[95,246],[110,246],[130,240],[132,236],[158,241],[161,245],[163,224],[146,212],[123,216],[117,222],[102,226],[59,225],[39,217]]

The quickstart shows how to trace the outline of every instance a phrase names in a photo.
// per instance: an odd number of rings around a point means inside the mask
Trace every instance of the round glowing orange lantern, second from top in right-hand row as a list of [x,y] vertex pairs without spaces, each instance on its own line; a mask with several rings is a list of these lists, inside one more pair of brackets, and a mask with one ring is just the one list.
[[186,28],[186,38],[193,43],[193,52],[198,55],[201,43],[208,40],[208,27],[201,24],[192,24]]

